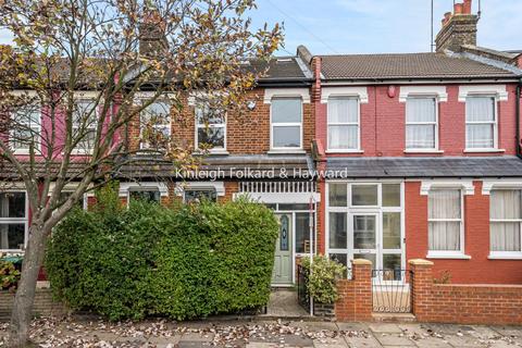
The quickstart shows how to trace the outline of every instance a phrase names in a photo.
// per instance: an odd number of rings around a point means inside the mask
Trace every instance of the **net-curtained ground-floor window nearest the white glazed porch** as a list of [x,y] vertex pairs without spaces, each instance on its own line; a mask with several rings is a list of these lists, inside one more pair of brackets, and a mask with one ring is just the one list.
[[[428,196],[430,250],[460,250],[460,190],[433,190]],[[449,221],[444,221],[449,220]]]

